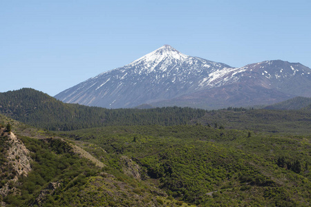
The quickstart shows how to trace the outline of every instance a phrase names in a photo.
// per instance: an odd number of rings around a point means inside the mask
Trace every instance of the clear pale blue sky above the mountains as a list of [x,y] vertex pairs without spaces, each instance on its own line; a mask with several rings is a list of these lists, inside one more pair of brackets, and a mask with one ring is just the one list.
[[0,92],[56,95],[169,44],[241,67],[311,68],[311,1],[0,0]]

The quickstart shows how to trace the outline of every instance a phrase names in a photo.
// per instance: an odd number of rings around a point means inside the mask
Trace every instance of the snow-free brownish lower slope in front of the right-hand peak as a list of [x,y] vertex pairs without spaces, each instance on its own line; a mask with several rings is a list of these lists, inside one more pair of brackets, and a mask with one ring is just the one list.
[[182,95],[174,99],[151,103],[153,106],[196,106],[207,110],[232,107],[268,105],[294,97],[274,88],[254,86],[247,83],[232,83],[217,88],[208,88]]

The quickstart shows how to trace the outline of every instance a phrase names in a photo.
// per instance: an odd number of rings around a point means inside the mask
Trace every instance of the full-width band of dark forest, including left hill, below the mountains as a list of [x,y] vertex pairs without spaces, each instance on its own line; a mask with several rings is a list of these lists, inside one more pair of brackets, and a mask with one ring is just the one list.
[[[298,99],[298,98],[297,98]],[[303,99],[305,100],[305,99]],[[0,93],[0,112],[31,126],[48,130],[77,130],[99,126],[175,126],[202,124],[219,128],[265,132],[311,133],[311,109],[263,110],[232,108],[106,109],[62,103],[43,92],[23,88]]]

